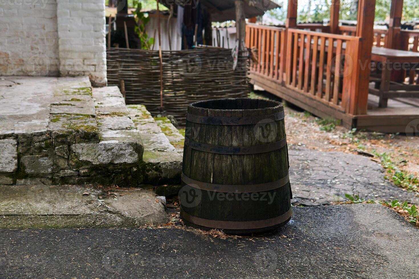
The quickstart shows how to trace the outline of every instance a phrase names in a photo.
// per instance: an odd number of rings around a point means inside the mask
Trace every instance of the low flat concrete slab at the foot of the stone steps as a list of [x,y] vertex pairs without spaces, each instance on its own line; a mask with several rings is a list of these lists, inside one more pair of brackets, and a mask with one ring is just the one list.
[[[0,228],[113,228],[166,223],[151,190],[74,185],[0,185]],[[88,194],[84,194],[88,193]]]

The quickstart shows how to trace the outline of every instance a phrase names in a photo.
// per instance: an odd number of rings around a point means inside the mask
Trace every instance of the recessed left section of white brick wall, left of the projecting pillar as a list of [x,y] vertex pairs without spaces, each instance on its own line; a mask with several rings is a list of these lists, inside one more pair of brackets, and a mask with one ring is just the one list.
[[0,75],[59,74],[56,0],[0,0]]

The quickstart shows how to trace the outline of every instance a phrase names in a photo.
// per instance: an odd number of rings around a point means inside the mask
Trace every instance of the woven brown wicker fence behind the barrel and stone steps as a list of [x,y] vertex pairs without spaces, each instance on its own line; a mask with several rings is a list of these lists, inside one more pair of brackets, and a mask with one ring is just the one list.
[[[239,56],[233,70],[230,49],[163,51],[163,109],[183,125],[189,103],[245,97],[249,92],[248,59]],[[158,51],[111,48],[106,57],[108,85],[124,80],[127,104],[142,104],[160,113]]]

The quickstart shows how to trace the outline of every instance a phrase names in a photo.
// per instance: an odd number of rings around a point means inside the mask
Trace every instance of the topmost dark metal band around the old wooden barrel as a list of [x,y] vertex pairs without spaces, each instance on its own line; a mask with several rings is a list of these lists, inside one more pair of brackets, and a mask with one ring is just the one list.
[[256,115],[256,116],[239,116],[239,117],[227,117],[227,116],[202,116],[187,113],[186,120],[189,122],[209,125],[252,125],[257,124],[261,120],[282,120],[285,118],[284,111],[279,113],[272,113],[267,115]]

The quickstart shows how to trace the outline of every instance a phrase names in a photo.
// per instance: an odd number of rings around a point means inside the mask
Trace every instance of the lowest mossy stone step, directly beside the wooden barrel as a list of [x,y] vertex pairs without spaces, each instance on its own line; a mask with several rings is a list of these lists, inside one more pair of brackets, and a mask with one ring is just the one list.
[[127,108],[144,145],[144,182],[153,185],[180,184],[182,156],[144,105],[127,105]]

